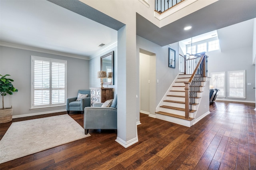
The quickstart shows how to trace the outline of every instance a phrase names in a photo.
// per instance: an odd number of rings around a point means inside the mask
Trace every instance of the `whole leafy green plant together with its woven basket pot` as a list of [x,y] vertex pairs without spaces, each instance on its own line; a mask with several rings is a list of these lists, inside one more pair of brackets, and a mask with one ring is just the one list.
[[13,87],[12,81],[13,79],[8,79],[6,76],[10,76],[8,74],[6,75],[0,75],[0,93],[2,95],[2,104],[3,108],[0,109],[0,123],[6,123],[12,121],[12,107],[10,108],[4,108],[4,96],[7,94],[13,95],[14,92],[17,92],[18,89]]

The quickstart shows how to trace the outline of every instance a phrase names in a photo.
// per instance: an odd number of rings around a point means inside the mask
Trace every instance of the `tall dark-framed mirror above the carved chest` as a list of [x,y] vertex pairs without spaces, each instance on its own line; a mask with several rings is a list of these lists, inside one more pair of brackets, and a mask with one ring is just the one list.
[[100,57],[100,71],[107,73],[107,78],[103,79],[103,84],[114,85],[114,51]]

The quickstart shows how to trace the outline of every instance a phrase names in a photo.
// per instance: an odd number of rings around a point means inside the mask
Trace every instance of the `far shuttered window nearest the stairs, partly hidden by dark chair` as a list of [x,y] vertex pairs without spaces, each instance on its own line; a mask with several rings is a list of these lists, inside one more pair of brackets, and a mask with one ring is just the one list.
[[225,72],[216,72],[211,75],[211,84],[214,89],[219,89],[217,97],[226,97],[226,75]]

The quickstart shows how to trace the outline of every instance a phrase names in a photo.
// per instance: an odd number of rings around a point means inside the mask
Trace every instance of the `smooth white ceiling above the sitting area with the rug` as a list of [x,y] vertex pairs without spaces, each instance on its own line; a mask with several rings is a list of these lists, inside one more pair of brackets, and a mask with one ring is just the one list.
[[117,31],[46,0],[0,0],[0,42],[89,57]]

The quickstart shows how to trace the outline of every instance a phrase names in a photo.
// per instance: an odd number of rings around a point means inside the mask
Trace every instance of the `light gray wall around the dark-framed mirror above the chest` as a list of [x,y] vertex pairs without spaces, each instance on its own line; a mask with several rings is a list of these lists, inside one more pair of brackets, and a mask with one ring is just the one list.
[[100,87],[100,79],[97,78],[97,73],[100,71],[100,57],[114,51],[114,85],[103,85],[103,87],[114,88],[114,95],[117,94],[117,47],[108,49],[96,56],[89,61],[89,87]]

